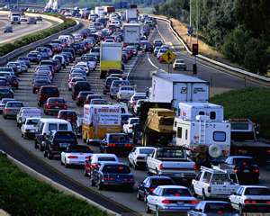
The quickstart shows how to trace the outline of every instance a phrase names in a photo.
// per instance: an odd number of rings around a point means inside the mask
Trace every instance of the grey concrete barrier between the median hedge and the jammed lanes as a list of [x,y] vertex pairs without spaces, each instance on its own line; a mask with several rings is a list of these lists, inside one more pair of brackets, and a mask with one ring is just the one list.
[[35,49],[36,47],[42,46],[42,45],[48,43],[50,40],[57,39],[58,36],[61,34],[69,34],[73,31],[80,29],[81,27],[82,27],[82,23],[79,23],[78,21],[76,21],[76,25],[69,27],[66,30],[58,31],[57,33],[54,33],[45,39],[37,40],[37,41],[32,42],[32,43],[30,43],[22,48],[19,48],[19,49],[14,49],[12,52],[9,52],[8,54],[0,57],[0,65],[4,65],[9,60],[22,55],[26,51],[29,51],[31,49]]

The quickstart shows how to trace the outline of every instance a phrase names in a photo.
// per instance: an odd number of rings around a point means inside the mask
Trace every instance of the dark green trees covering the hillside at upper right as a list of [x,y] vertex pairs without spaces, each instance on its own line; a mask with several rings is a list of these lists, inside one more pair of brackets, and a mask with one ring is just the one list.
[[[270,63],[269,0],[191,0],[191,5],[193,26],[199,7],[202,40],[231,61],[254,73],[266,74]],[[188,23],[184,14],[189,14],[189,9],[189,0],[169,0],[155,6],[155,13]]]

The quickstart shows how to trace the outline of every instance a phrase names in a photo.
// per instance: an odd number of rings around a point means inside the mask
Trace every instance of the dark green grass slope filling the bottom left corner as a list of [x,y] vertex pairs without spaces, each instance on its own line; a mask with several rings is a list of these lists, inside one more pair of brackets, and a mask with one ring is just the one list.
[[13,216],[108,214],[23,173],[0,155],[0,207]]

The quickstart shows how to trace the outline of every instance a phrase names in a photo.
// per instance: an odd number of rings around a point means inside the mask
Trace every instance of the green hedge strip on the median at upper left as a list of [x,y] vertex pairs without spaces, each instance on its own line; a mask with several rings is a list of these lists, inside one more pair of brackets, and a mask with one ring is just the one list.
[[71,26],[76,25],[76,21],[72,19],[66,19],[65,17],[61,17],[61,19],[64,20],[64,23],[59,23],[56,26],[28,34],[19,40],[15,40],[14,42],[4,44],[3,46],[0,47],[0,56],[4,56],[7,53],[12,52],[14,49],[22,48],[23,46],[26,46],[32,42],[45,39],[49,37],[51,34],[57,33],[58,31],[63,31]]

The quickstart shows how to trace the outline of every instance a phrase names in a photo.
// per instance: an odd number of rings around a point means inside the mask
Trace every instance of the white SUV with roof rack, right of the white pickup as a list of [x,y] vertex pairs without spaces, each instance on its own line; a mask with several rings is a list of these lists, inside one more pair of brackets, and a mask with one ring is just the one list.
[[202,196],[202,200],[228,199],[231,193],[238,190],[238,187],[238,178],[235,173],[204,166],[201,167],[201,172],[193,179],[191,185],[193,193]]

